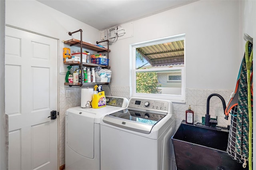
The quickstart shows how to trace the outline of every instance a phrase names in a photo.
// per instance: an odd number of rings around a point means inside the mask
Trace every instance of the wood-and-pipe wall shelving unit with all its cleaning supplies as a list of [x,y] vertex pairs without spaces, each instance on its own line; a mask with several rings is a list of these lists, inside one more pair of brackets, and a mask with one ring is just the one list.
[[[82,41],[82,30],[77,30],[75,32],[68,32],[70,36],[72,34],[80,32],[80,40],[71,39],[64,42],[66,45],[80,47],[79,53],[70,52],[70,48],[63,48],[63,62],[68,64],[68,71],[65,77],[65,85],[70,87],[74,86],[94,86],[95,84],[108,85],[110,83],[111,71],[109,70],[110,66],[108,65],[109,61],[109,42],[104,40],[101,42],[107,42],[108,48],[98,45],[100,42],[96,42],[97,45],[83,42]],[[89,51],[83,51],[84,49],[97,51],[97,54],[91,54]],[[107,53],[101,55],[101,53]],[[71,69],[76,67],[76,70],[71,72]],[[103,68],[102,68],[103,67]],[[95,71],[94,71],[95,70]]]

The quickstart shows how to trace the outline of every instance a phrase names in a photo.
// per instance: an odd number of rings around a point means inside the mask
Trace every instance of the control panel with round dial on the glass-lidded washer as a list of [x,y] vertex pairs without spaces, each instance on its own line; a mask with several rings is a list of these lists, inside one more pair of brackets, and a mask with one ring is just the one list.
[[128,107],[133,109],[161,111],[167,113],[169,109],[169,102],[152,99],[131,98]]

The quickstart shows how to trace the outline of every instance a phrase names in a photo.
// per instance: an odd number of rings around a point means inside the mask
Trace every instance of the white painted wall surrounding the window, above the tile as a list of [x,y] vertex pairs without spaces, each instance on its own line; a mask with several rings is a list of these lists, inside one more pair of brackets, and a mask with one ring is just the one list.
[[240,58],[239,1],[198,1],[134,21],[133,37],[110,46],[112,86],[129,86],[129,45],[186,34],[186,88],[233,89]]

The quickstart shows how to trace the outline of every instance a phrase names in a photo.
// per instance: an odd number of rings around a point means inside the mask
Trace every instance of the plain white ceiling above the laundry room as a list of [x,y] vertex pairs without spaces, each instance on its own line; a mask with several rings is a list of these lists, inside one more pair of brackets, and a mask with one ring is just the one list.
[[98,30],[105,30],[198,0],[37,0]]

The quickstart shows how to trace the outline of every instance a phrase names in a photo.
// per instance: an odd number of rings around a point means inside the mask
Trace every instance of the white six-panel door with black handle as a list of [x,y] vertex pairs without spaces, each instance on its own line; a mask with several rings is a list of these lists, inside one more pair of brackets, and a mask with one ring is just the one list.
[[58,40],[6,26],[9,170],[57,170]]

